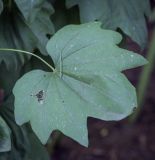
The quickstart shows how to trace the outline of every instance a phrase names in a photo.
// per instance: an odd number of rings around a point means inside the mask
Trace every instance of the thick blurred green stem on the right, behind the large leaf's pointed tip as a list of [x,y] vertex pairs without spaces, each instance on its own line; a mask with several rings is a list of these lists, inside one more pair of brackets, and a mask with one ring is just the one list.
[[129,121],[131,123],[134,123],[137,120],[137,117],[139,116],[142,105],[145,100],[145,95],[147,92],[147,87],[149,84],[149,80],[151,77],[152,70],[154,68],[154,62],[155,62],[155,29],[153,30],[152,40],[150,42],[150,46],[147,53],[147,59],[149,61],[149,64],[146,65],[141,73],[139,84],[138,84],[138,108],[136,112],[130,117]]

